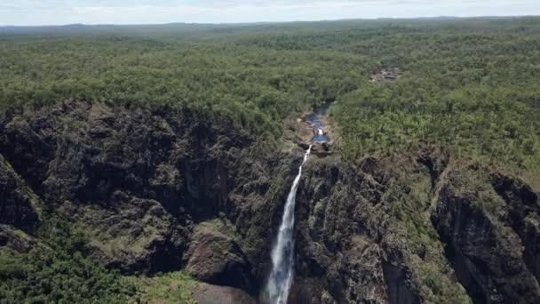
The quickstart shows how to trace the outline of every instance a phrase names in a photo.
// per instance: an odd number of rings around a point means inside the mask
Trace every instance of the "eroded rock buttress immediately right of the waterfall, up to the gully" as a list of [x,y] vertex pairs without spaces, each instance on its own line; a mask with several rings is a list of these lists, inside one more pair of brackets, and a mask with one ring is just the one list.
[[308,162],[305,172],[298,191],[292,302],[419,302],[399,252],[394,254],[397,246],[385,239],[392,233],[377,223],[384,213],[377,211],[384,186],[325,159]]

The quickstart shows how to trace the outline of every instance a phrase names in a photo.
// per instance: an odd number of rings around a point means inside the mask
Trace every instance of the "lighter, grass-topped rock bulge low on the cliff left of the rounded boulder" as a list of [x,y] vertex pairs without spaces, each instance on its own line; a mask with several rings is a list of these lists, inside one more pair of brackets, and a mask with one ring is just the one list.
[[127,196],[117,191],[114,205],[78,206],[65,202],[58,212],[78,219],[90,238],[92,256],[109,268],[149,273],[181,267],[181,254],[189,232],[155,200]]

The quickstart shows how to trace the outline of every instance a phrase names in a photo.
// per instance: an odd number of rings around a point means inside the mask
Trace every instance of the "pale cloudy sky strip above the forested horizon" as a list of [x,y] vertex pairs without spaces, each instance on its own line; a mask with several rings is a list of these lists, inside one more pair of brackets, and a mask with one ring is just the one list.
[[0,0],[0,25],[540,15],[540,0]]

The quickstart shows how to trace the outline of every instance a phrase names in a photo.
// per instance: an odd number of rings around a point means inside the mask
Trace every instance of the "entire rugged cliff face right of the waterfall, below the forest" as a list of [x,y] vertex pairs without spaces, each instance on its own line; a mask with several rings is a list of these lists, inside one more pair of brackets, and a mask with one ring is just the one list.
[[298,202],[298,302],[540,300],[540,204],[520,180],[428,147],[314,159]]

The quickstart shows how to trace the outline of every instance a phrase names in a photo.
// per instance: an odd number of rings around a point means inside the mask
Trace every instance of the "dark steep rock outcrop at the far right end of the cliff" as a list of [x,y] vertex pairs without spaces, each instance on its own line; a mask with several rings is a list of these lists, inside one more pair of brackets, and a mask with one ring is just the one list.
[[529,243],[538,236],[536,194],[498,174],[490,187],[488,177],[469,169],[476,184],[466,184],[472,179],[463,172],[450,172],[432,216],[459,281],[476,303],[537,303],[538,247]]

